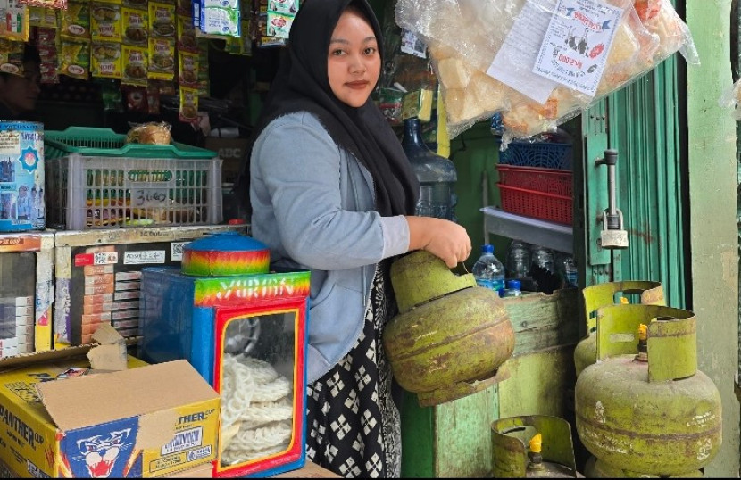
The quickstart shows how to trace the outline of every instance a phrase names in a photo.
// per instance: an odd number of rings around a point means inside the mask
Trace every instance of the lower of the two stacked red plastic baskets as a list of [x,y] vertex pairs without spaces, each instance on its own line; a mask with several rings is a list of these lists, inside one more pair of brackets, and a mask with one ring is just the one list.
[[545,194],[497,183],[502,199],[502,210],[535,219],[571,225],[573,198],[565,195]]

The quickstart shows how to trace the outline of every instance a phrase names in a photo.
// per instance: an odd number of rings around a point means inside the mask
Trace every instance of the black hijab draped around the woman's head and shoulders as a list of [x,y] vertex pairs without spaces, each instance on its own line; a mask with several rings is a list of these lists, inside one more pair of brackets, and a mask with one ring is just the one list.
[[[383,64],[379,21],[366,0],[306,1],[291,26],[287,55],[262,107],[252,140],[271,120],[291,112],[311,112],[337,145],[352,153],[370,171],[376,211],[383,216],[413,215],[420,185],[386,118],[370,98],[362,107],[354,108],[339,101],[329,87],[329,40],[340,15],[350,4],[370,22]],[[251,150],[250,147],[247,152],[247,163]]]

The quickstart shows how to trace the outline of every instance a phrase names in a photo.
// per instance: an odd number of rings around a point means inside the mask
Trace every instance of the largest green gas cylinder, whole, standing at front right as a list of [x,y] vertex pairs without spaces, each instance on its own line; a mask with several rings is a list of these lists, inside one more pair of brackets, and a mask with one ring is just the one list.
[[720,393],[697,370],[695,315],[658,305],[597,310],[597,362],[576,385],[579,438],[603,469],[696,476],[720,450]]

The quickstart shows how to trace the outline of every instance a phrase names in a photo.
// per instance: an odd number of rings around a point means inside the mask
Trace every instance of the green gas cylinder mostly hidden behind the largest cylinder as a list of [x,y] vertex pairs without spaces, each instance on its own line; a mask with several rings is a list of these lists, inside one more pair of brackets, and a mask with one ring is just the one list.
[[643,280],[625,282],[607,282],[594,286],[587,286],[582,290],[584,296],[584,310],[587,319],[587,336],[577,343],[574,349],[574,366],[579,377],[584,368],[597,360],[597,342],[595,340],[596,319],[595,310],[600,307],[620,303],[628,300],[627,294],[640,294],[640,302],[645,305],[666,305],[664,290],[659,282]]

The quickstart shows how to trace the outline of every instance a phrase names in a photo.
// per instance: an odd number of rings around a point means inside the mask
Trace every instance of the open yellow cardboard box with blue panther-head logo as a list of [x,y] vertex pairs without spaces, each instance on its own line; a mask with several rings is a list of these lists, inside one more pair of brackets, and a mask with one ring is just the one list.
[[[146,365],[127,359],[112,327],[99,328],[101,338],[0,360],[0,460],[21,477],[212,468],[219,394],[185,360]],[[87,375],[58,379],[79,369]]]

